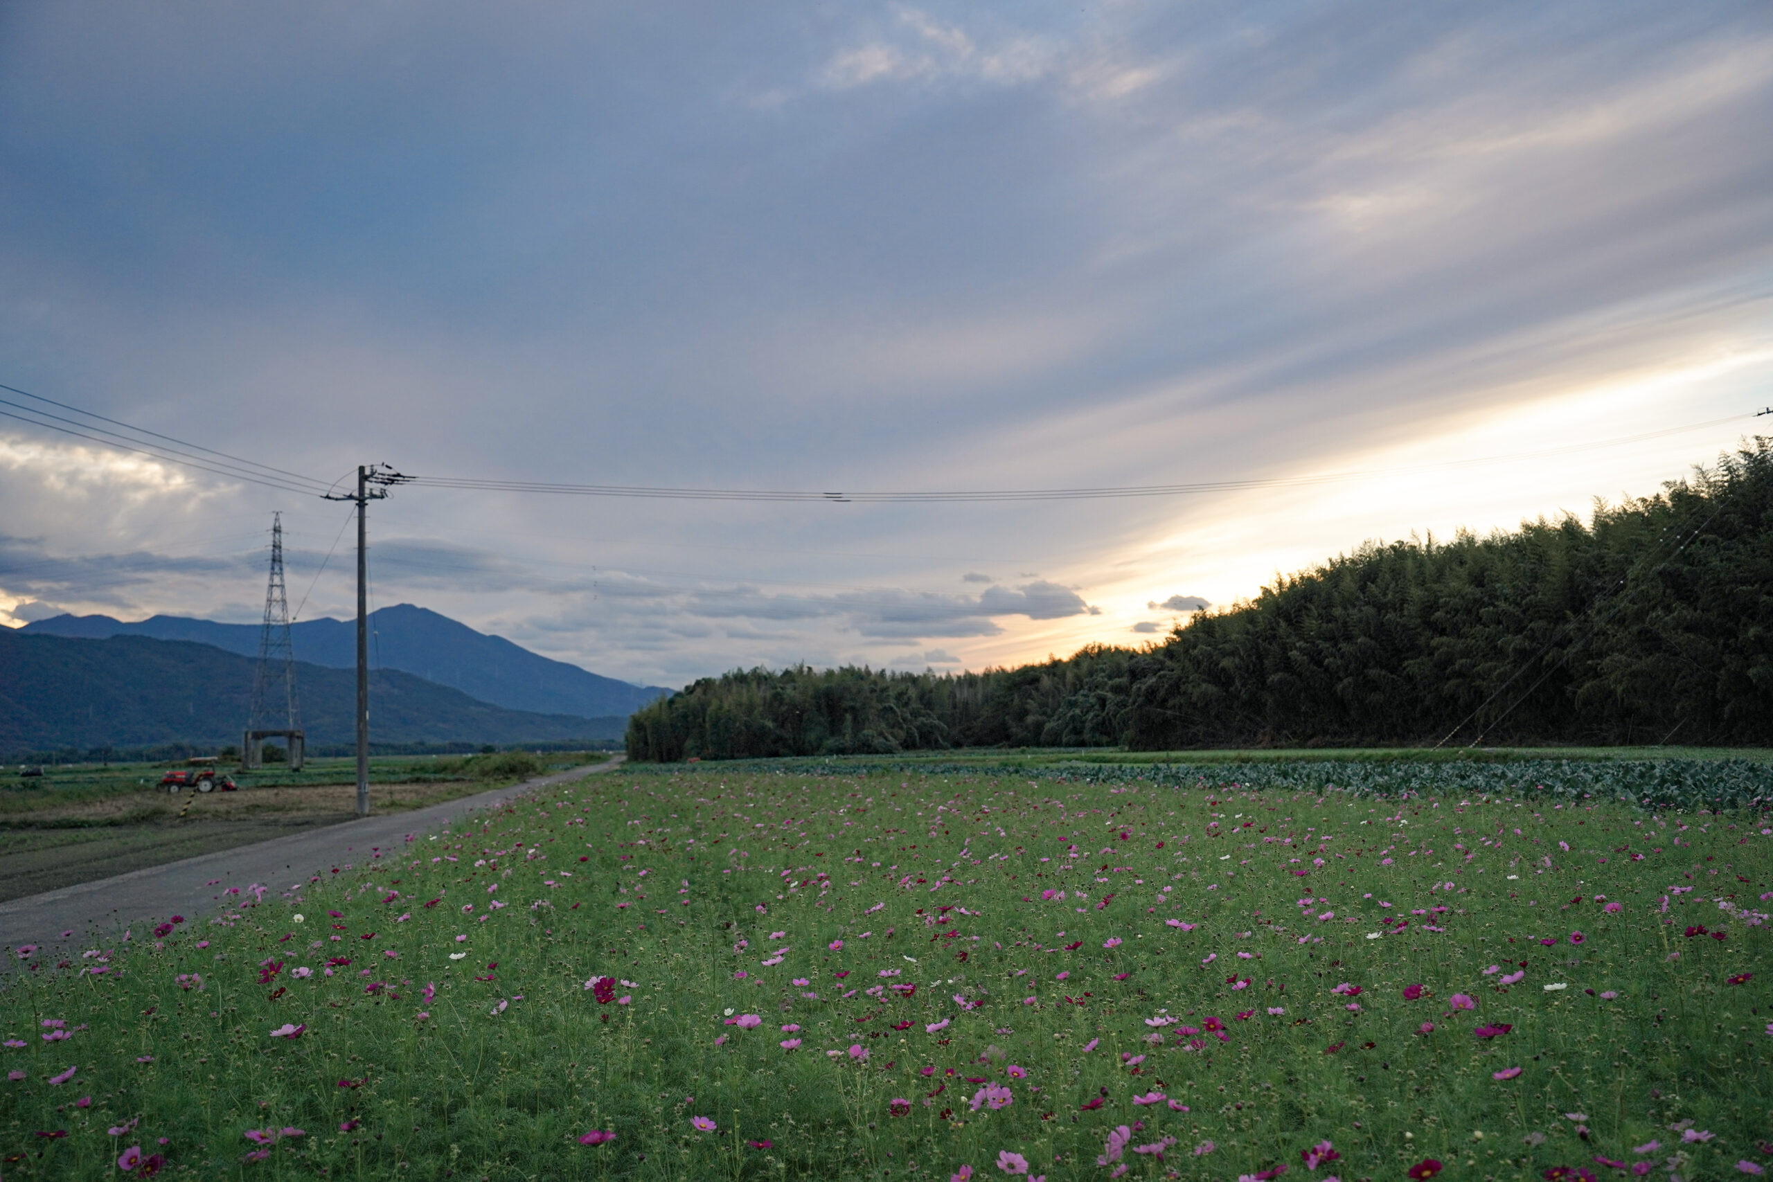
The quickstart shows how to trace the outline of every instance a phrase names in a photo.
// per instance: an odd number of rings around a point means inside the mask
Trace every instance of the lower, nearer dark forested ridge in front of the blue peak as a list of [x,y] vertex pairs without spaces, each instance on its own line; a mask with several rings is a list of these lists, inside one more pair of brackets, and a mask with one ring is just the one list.
[[[0,758],[30,751],[238,744],[257,661],[215,645],[147,636],[85,640],[0,627]],[[356,734],[351,670],[296,663],[309,748]],[[402,670],[369,679],[378,744],[619,739],[624,716],[507,711]]]

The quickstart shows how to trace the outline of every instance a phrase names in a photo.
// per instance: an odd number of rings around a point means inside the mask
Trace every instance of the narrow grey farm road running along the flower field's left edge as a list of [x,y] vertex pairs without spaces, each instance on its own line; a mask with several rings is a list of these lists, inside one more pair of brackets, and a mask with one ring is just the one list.
[[[255,845],[184,858],[160,867],[131,870],[94,883],[64,886],[60,890],[14,898],[0,904],[0,945],[41,945],[43,957],[62,955],[62,948],[103,936],[115,939],[129,925],[147,927],[151,920],[183,914],[195,920],[223,906],[225,891],[245,891],[254,883],[271,891],[305,884],[316,874],[330,874],[358,861],[369,861],[397,849],[410,836],[438,829],[473,810],[493,810],[523,792],[567,783],[583,776],[619,767],[622,757],[606,764],[574,767],[553,776],[539,776],[525,783],[475,796],[463,796],[443,805],[411,812],[353,817],[321,829],[307,829]],[[232,897],[229,897],[232,898]],[[64,937],[62,932],[71,932]],[[135,936],[147,936],[145,930]],[[4,966],[18,959],[4,957]]]

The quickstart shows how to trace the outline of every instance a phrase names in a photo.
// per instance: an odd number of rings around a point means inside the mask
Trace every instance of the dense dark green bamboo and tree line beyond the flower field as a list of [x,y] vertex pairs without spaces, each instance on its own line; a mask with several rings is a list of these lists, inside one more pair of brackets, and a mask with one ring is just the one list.
[[1140,649],[977,673],[734,670],[638,760],[961,746],[1773,743],[1773,441],[1583,523],[1367,544]]

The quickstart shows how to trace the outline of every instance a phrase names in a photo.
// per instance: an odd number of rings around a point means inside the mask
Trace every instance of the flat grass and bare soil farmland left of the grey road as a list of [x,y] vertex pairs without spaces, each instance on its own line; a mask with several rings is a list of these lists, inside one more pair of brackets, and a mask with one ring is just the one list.
[[[543,769],[576,767],[603,753],[550,753]],[[183,766],[183,764],[181,764]],[[309,760],[301,773],[234,773],[239,792],[160,789],[168,766],[48,767],[43,780],[0,780],[0,902],[250,845],[356,815],[356,762]],[[475,774],[459,755],[371,760],[371,808],[401,812],[472,796],[521,776]],[[181,819],[179,810],[191,801]]]

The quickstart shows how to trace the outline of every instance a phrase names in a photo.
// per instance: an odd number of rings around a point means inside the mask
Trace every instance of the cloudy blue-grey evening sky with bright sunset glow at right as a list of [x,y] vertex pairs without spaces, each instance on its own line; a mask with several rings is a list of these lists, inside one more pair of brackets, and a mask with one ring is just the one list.
[[[977,670],[1714,463],[1769,191],[1761,0],[18,0],[0,383],[321,482],[1232,484],[371,507],[376,604],[612,677]],[[0,418],[0,624],[257,620],[278,510],[349,615],[348,505]]]

